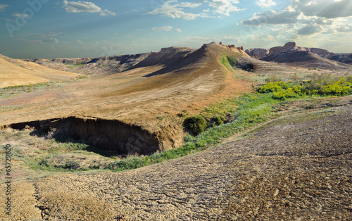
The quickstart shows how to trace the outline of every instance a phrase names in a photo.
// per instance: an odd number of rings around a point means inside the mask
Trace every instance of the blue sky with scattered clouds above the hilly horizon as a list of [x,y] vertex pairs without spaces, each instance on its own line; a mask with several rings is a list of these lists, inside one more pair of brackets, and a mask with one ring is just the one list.
[[352,0],[0,0],[0,53],[86,58],[296,42],[352,53]]

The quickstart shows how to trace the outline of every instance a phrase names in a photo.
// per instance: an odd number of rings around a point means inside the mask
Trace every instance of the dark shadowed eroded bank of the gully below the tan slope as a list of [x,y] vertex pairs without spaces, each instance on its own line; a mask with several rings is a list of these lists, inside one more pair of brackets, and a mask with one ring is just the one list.
[[[171,125],[158,128],[153,132],[138,125],[128,125],[118,120],[99,118],[61,118],[20,122],[1,126],[23,130],[34,127],[42,132],[55,131],[58,136],[65,136],[98,149],[111,151],[116,155],[149,155],[178,147],[182,144],[183,132]],[[55,136],[54,136],[55,137]]]

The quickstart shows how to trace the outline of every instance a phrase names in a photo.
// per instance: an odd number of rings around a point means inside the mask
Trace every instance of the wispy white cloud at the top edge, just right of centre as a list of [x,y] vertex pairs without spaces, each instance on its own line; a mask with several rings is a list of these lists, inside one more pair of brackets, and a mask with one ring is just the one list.
[[199,13],[199,14],[194,14],[194,13],[186,13],[184,12],[184,8],[196,8],[201,6],[201,4],[196,4],[196,3],[190,3],[190,2],[182,2],[179,4],[174,4],[177,3],[175,0],[171,1],[166,1],[163,6],[160,8],[156,8],[153,11],[150,11],[147,14],[150,15],[166,15],[171,18],[183,18],[186,20],[194,20],[195,18],[198,17],[206,17],[206,14],[204,13]]

